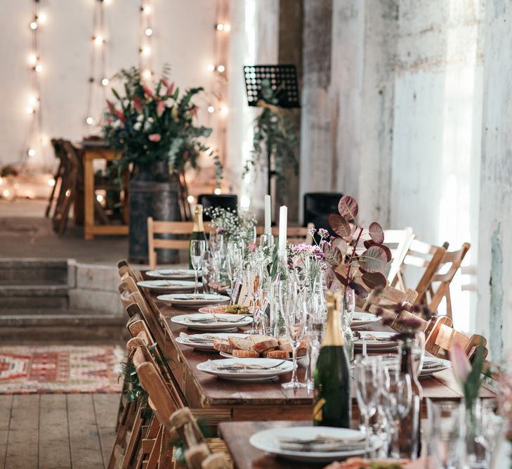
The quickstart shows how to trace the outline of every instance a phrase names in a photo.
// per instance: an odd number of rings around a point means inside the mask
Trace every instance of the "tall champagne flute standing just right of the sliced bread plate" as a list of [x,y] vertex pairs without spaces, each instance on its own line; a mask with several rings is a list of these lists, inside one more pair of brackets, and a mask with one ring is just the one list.
[[306,311],[298,304],[301,300],[294,283],[288,283],[287,281],[280,282],[279,297],[294,360],[294,370],[291,373],[291,381],[289,383],[283,383],[282,387],[285,389],[306,387],[306,383],[298,382],[296,371],[298,345],[300,345],[304,333],[306,332]]

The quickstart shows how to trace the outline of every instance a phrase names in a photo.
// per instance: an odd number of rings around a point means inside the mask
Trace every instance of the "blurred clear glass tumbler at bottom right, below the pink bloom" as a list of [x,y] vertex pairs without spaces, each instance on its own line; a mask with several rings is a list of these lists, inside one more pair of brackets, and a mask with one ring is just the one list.
[[428,426],[435,462],[440,469],[459,467],[464,411],[459,402],[427,399]]

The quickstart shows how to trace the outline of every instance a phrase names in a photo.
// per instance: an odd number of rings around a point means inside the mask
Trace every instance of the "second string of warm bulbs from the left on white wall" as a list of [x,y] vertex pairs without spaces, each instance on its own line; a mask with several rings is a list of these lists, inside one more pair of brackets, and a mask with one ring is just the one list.
[[[91,35],[91,63],[88,77],[87,108],[85,123],[88,126],[99,122],[105,103],[105,87],[110,83],[106,72],[107,31],[105,25],[105,4],[111,0],[95,0],[93,7],[93,34]],[[99,101],[97,96],[99,96]],[[94,117],[98,115],[98,117]]]

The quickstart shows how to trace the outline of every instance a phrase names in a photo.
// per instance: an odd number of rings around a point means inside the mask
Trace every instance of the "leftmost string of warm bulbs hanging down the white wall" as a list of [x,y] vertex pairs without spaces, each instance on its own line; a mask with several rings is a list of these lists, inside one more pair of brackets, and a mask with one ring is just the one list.
[[[42,136],[43,113],[41,112],[41,51],[39,44],[39,34],[41,25],[46,23],[46,15],[40,11],[41,0],[32,1],[32,16],[28,26],[30,30],[30,53],[28,56],[29,66],[29,94],[25,111],[29,115],[29,129],[27,138],[22,148],[22,158],[20,171],[23,171],[28,165],[29,160],[36,155],[40,155],[40,161],[43,166],[48,166],[44,146],[48,143]],[[46,169],[46,168],[45,168]]]

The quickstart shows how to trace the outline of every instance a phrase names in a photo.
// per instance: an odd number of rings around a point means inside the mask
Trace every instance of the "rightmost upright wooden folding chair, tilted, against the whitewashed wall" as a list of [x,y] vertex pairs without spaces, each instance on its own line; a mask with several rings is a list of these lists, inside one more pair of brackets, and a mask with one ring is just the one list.
[[[431,311],[437,311],[440,302],[445,298],[446,315],[452,320],[452,299],[449,292],[449,285],[452,283],[455,274],[457,274],[457,271],[459,270],[462,261],[464,261],[464,257],[466,257],[469,248],[471,248],[471,245],[469,243],[464,243],[457,251],[445,252],[442,256],[438,271],[433,275],[431,284],[428,286],[428,293],[430,295],[428,308],[431,309]],[[448,269],[444,274],[438,273],[445,267],[448,267]],[[439,283],[437,289],[434,288],[434,284],[436,283]]]

